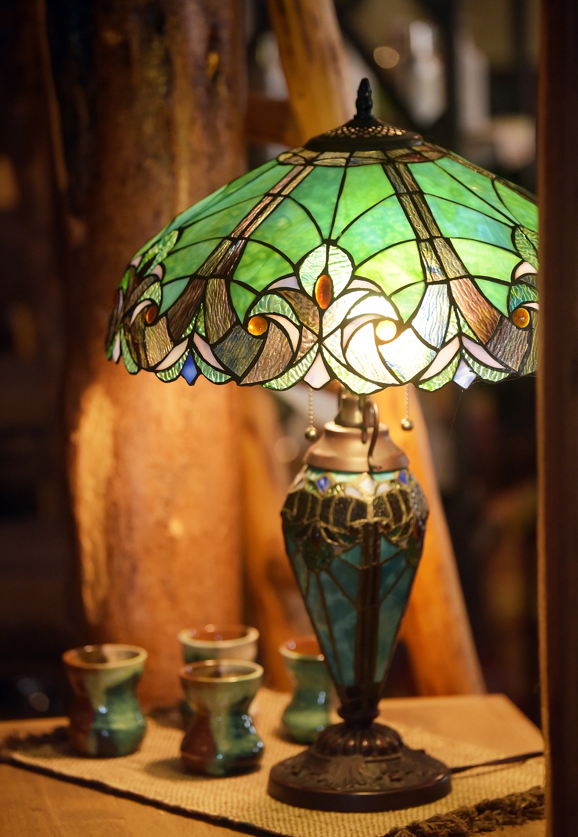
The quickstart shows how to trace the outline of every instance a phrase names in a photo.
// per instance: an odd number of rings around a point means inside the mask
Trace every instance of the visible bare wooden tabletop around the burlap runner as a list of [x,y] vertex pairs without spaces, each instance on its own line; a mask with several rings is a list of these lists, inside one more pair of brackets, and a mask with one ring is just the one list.
[[[542,737],[503,695],[415,697],[385,701],[387,720],[402,722],[506,755],[540,750]],[[43,732],[62,719],[3,721],[13,732]],[[226,812],[223,812],[223,814]],[[2,837],[238,837],[238,831],[169,814],[151,805],[0,764]],[[544,837],[544,821],[509,826],[493,837]]]

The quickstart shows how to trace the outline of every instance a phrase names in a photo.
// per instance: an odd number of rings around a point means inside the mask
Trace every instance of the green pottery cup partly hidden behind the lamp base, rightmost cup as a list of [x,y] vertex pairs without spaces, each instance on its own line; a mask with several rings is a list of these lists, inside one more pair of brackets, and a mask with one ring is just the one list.
[[293,697],[281,721],[284,732],[300,744],[312,744],[330,724],[330,673],[314,634],[288,639],[279,646],[294,680]]

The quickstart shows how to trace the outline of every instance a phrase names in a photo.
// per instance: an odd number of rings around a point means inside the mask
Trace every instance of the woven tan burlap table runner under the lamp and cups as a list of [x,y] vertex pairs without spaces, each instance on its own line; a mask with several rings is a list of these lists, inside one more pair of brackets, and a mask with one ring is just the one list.
[[[501,824],[540,819],[542,816],[541,793],[536,788],[544,781],[541,758],[507,767],[477,768],[460,773],[454,776],[452,793],[446,798],[403,811],[333,814],[292,808],[276,802],[267,794],[269,769],[280,759],[301,749],[279,735],[279,718],[286,703],[285,695],[266,689],[259,692],[253,707],[253,719],[265,742],[263,767],[257,773],[244,776],[216,779],[186,773],[179,757],[182,731],[176,726],[174,712],[159,711],[149,718],[141,750],[131,756],[108,759],[76,757],[64,736],[53,735],[12,742],[9,757],[14,763],[29,768],[90,783],[103,790],[211,819],[253,834],[264,832],[289,837],[319,837],[320,834],[331,837],[479,834],[481,830],[487,833]],[[386,718],[381,717],[381,721],[386,722]],[[489,761],[504,755],[417,727],[396,724],[396,729],[410,747],[423,747],[450,767]],[[485,801],[480,804],[482,800]],[[443,816],[449,812],[453,814]],[[424,823],[432,817],[435,819]],[[461,830],[456,830],[456,818]],[[413,825],[405,829],[408,824]]]

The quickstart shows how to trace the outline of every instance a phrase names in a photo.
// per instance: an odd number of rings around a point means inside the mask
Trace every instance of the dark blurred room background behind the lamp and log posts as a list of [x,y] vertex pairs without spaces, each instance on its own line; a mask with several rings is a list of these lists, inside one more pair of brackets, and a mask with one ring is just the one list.
[[[78,49],[89,6],[48,3],[74,17]],[[336,0],[335,8],[351,89],[371,80],[376,116],[535,191],[537,0]],[[245,0],[243,19],[249,93],[282,106],[287,87],[264,0]],[[34,3],[0,4],[0,42],[0,717],[58,715],[60,654],[87,634],[62,421],[69,341],[59,172]],[[247,168],[286,147],[254,140],[248,131]],[[280,419],[274,456],[289,480],[304,451],[306,392],[270,398]],[[488,691],[539,722],[535,380],[420,398]],[[317,394],[316,423],[334,413],[335,397]],[[402,646],[387,693],[415,693]]]

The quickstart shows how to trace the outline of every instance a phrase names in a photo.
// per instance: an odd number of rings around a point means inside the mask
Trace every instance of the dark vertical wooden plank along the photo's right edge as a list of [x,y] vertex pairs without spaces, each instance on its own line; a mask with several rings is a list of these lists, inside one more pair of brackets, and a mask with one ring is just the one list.
[[578,823],[578,4],[542,0],[540,674],[550,837]]

